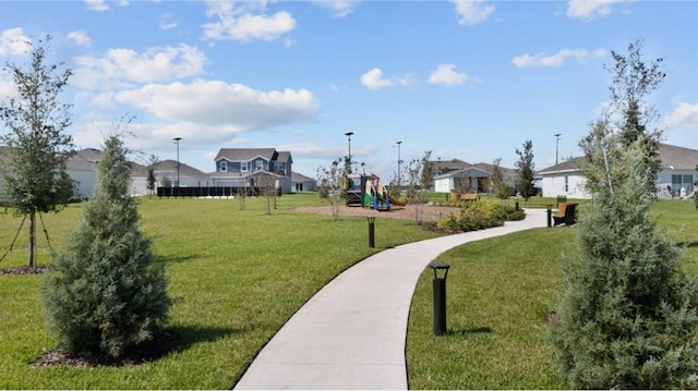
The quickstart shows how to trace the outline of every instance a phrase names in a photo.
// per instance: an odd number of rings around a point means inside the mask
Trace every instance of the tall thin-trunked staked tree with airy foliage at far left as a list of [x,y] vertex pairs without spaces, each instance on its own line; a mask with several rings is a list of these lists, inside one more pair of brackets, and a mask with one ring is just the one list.
[[8,63],[3,71],[12,75],[17,96],[0,102],[0,120],[7,134],[0,143],[9,159],[2,170],[2,193],[17,216],[29,219],[28,267],[34,266],[36,215],[59,211],[72,198],[74,184],[65,173],[73,151],[70,105],[59,95],[68,85],[71,70],[63,63],[47,63],[51,37],[31,44],[31,60],[25,66]]

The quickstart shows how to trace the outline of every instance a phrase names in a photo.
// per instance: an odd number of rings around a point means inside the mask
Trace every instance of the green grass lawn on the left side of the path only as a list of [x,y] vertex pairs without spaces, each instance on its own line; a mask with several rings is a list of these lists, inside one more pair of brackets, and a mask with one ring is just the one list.
[[[0,276],[0,388],[2,389],[226,389],[262,346],[316,291],[357,261],[390,246],[434,237],[411,221],[376,219],[375,245],[368,245],[365,218],[291,211],[317,205],[316,194],[285,195],[264,213],[263,198],[147,199],[142,228],[166,262],[174,300],[168,330],[180,346],[166,357],[131,367],[34,368],[53,345],[41,308],[40,276]],[[44,222],[56,248],[77,225],[80,206]],[[0,251],[21,219],[0,213]],[[37,233],[43,232],[40,227]],[[26,262],[26,225],[0,268]],[[38,241],[38,264],[50,262]]]

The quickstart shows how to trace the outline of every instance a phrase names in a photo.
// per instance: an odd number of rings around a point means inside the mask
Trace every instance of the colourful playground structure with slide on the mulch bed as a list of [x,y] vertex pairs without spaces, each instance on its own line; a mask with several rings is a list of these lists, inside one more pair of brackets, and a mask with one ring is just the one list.
[[375,210],[390,210],[392,206],[405,206],[388,195],[388,190],[376,174],[349,174],[344,181],[347,190],[347,206],[361,206]]

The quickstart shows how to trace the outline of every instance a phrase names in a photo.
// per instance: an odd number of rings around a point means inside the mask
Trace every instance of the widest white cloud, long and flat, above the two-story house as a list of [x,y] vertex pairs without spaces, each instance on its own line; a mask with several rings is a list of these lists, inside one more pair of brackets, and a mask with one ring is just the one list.
[[226,134],[310,122],[320,106],[305,89],[260,91],[241,84],[203,80],[149,84],[116,93],[112,99],[167,122],[196,123],[200,132]]

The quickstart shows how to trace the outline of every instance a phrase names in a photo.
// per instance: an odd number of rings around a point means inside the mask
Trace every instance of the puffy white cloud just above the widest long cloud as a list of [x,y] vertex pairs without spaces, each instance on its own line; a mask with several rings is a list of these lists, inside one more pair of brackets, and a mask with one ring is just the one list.
[[203,72],[204,53],[188,45],[149,48],[144,53],[111,49],[104,57],[77,57],[73,82],[82,88],[128,87],[130,83],[166,82]]

